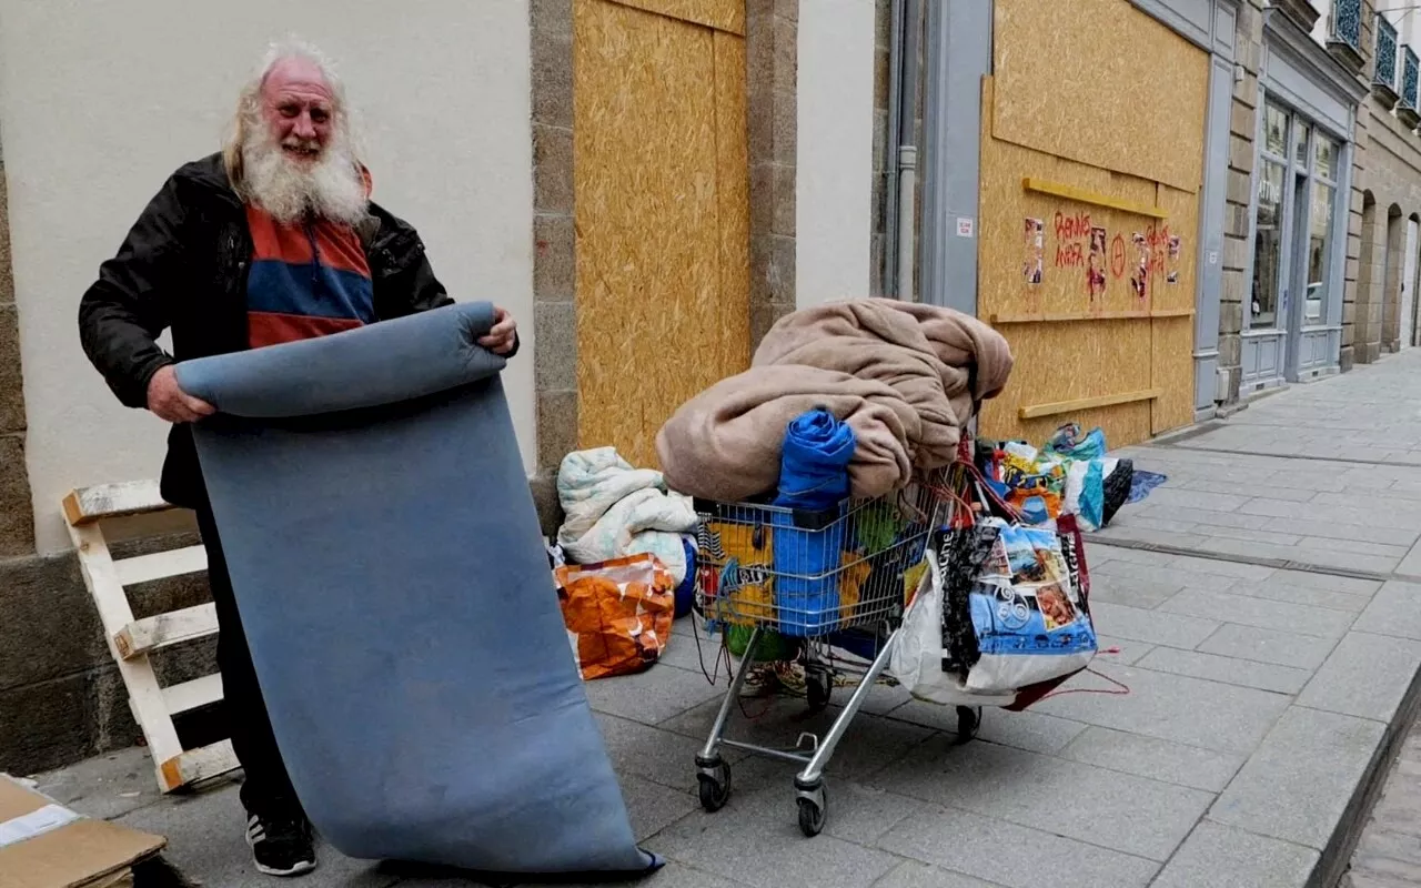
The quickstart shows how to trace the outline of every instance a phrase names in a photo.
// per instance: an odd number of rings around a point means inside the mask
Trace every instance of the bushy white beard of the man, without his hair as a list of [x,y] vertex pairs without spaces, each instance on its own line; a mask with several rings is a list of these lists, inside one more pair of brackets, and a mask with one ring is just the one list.
[[365,182],[344,139],[328,142],[315,163],[298,163],[264,124],[252,126],[242,145],[247,193],[281,223],[307,213],[355,224],[365,217]]

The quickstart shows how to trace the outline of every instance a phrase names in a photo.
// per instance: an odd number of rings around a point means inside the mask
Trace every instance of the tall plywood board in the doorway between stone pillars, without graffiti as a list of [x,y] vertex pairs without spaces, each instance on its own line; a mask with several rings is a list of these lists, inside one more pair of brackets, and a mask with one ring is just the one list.
[[654,467],[666,418],[749,364],[745,50],[607,0],[573,24],[578,446]]

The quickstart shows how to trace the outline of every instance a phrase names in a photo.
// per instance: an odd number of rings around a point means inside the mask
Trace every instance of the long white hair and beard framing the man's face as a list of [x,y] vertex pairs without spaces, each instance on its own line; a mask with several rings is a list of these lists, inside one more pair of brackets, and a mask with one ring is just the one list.
[[[321,161],[308,170],[294,168],[283,156],[261,115],[261,90],[267,77],[277,64],[290,60],[314,64],[331,91],[333,138]],[[297,38],[271,44],[242,87],[223,145],[223,163],[232,188],[244,200],[261,205],[283,222],[291,222],[304,212],[358,222],[365,215],[367,196],[352,117],[345,84],[325,54]]]

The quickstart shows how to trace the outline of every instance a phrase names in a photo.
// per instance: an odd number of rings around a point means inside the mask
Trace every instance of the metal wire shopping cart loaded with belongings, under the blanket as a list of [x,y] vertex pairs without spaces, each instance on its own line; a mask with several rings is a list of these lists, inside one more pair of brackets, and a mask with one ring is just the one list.
[[[948,484],[946,470],[938,470],[898,493],[827,511],[695,500],[701,519],[696,611],[720,629],[722,644],[736,631],[749,632],[710,736],[696,756],[706,811],[720,810],[730,798],[730,764],[720,754],[726,746],[801,764],[794,777],[800,830],[813,837],[824,828],[824,767],[890,662],[905,602],[926,570],[924,547],[952,507]],[[828,705],[841,671],[861,675],[824,736],[801,733],[793,749],[725,736],[760,642],[772,634],[797,648],[810,710]],[[828,654],[831,646],[860,654],[868,665],[845,668]],[[976,732],[979,718],[979,709],[958,708],[959,739]]]

